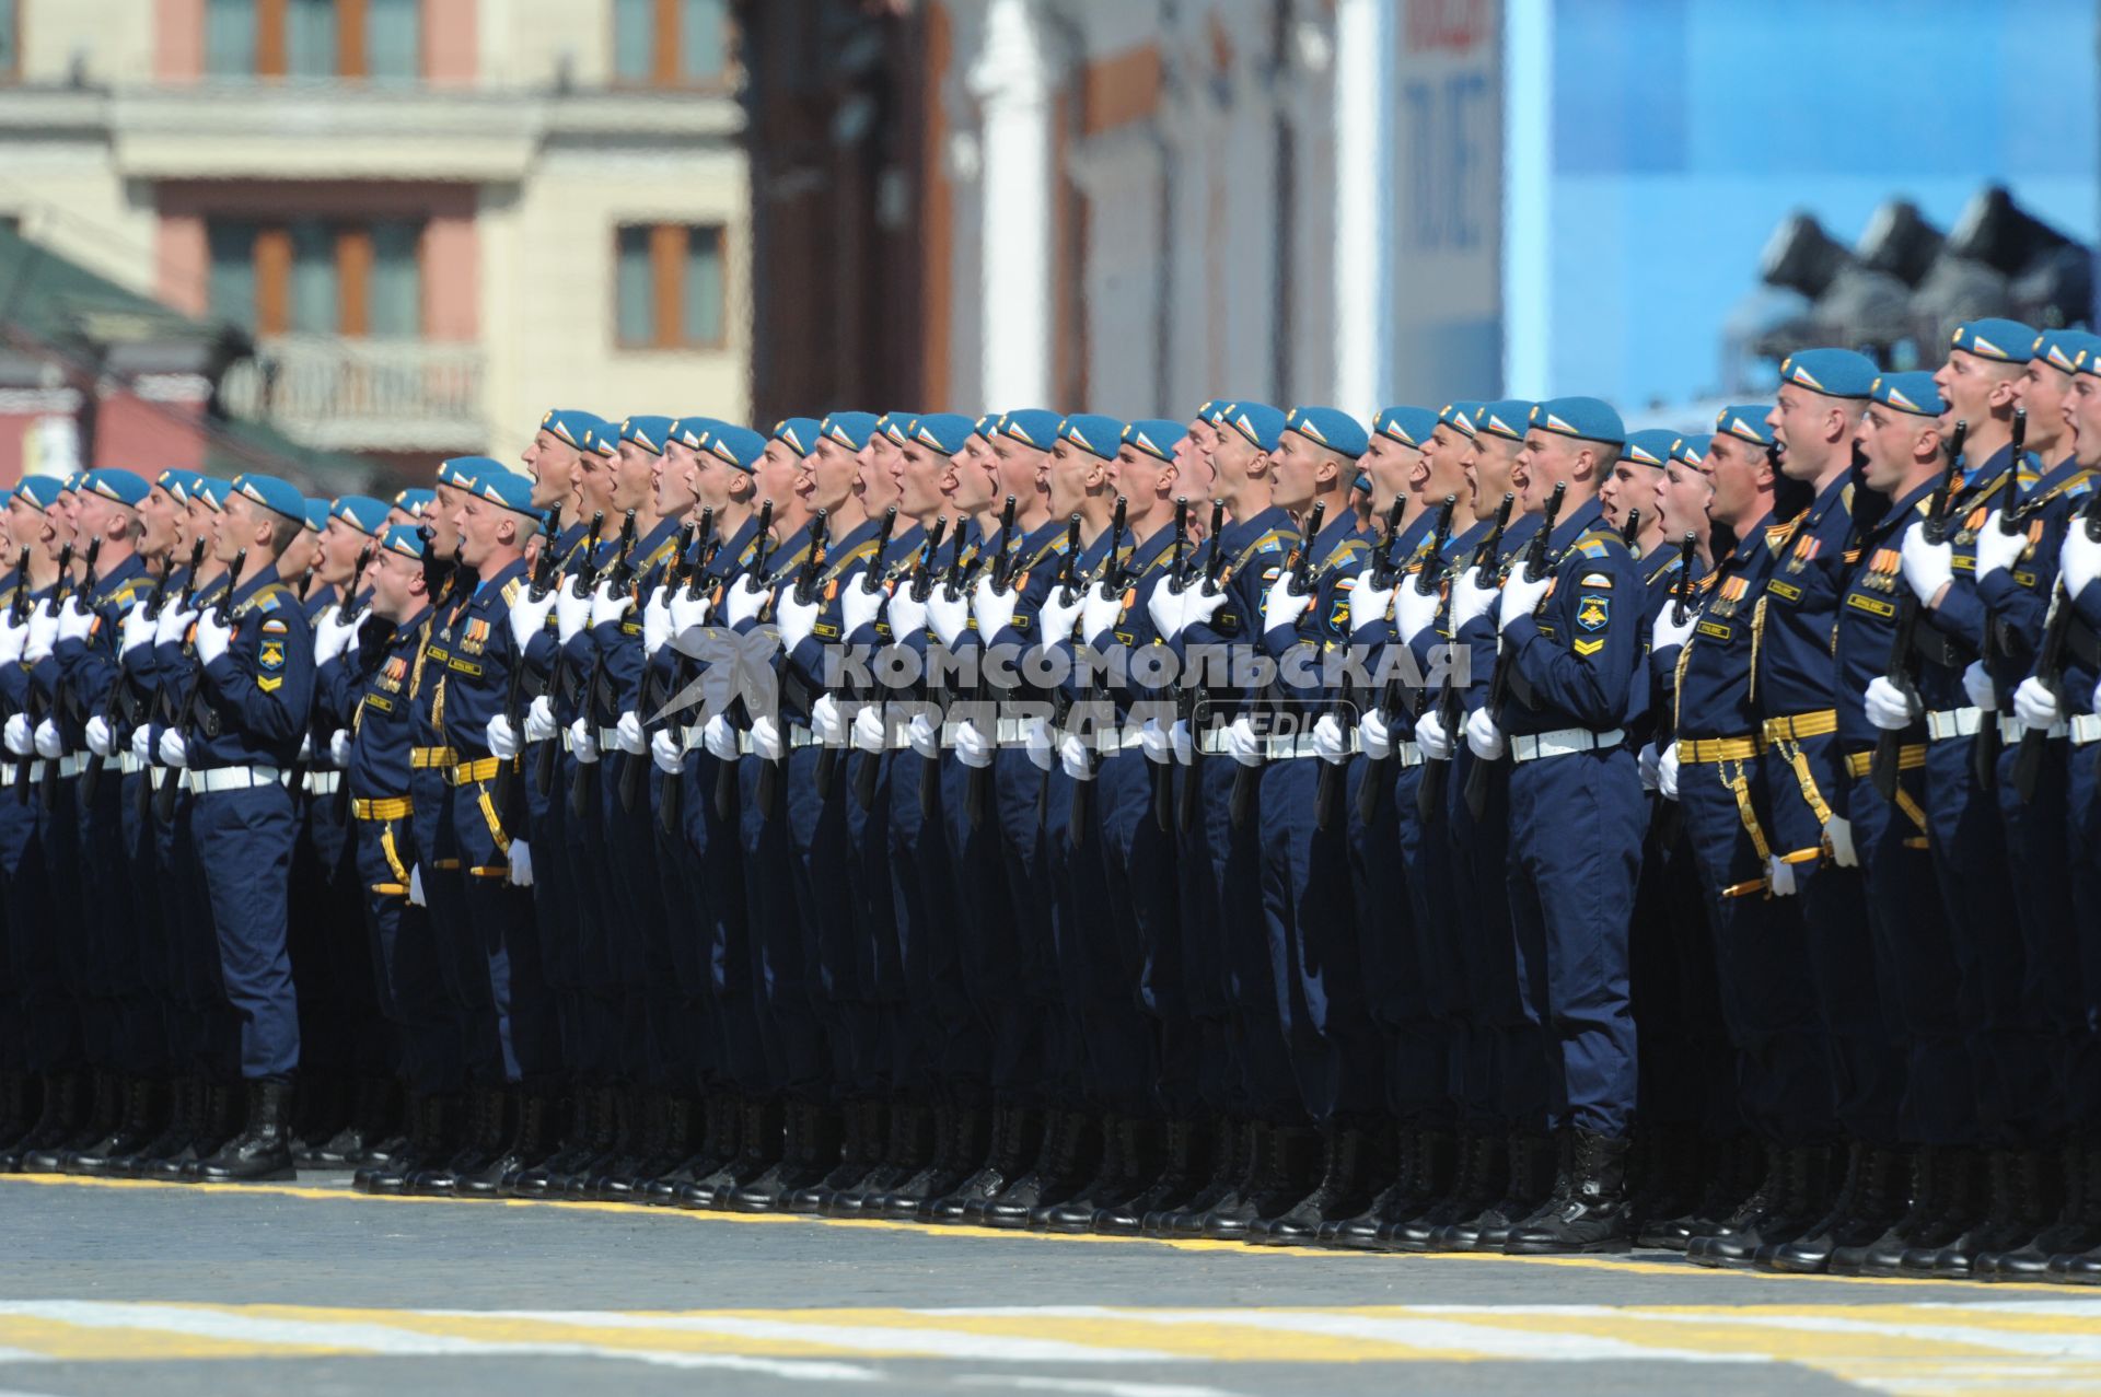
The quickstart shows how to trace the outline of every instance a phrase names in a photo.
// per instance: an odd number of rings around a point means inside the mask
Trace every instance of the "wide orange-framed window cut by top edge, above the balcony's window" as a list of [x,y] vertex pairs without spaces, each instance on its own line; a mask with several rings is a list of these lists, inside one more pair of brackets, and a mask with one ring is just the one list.
[[204,71],[410,82],[422,74],[422,0],[206,0]]

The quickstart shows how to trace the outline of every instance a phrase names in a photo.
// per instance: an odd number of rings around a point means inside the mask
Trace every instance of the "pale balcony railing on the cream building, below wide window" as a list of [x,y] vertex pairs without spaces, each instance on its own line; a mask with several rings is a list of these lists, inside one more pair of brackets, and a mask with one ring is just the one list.
[[477,452],[479,345],[284,334],[221,382],[227,412],[332,452]]

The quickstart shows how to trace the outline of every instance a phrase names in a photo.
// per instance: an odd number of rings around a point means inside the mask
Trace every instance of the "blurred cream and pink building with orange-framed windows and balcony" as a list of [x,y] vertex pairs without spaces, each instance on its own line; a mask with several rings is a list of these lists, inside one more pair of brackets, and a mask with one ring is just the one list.
[[729,0],[0,0],[0,223],[242,336],[155,384],[204,420],[416,468],[742,418],[737,86]]

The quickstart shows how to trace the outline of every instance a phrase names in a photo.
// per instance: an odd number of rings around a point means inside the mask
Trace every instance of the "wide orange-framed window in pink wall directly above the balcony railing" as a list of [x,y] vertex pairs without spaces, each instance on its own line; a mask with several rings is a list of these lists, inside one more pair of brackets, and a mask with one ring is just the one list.
[[422,223],[212,218],[212,315],[252,334],[422,334]]

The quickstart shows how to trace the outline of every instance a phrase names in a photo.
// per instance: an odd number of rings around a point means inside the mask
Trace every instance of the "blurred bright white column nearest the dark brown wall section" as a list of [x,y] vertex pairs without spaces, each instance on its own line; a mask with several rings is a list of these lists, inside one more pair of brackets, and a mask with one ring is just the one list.
[[1050,59],[1036,0],[992,0],[971,65],[981,107],[979,294],[983,403],[1055,408],[1050,399]]

